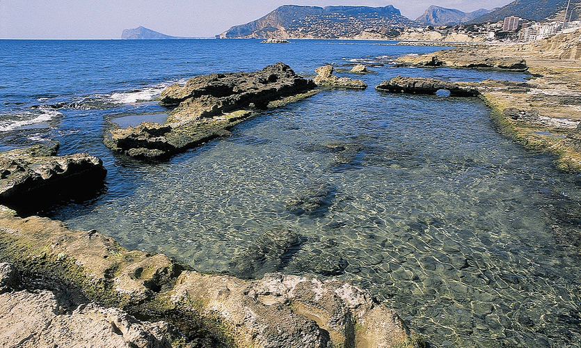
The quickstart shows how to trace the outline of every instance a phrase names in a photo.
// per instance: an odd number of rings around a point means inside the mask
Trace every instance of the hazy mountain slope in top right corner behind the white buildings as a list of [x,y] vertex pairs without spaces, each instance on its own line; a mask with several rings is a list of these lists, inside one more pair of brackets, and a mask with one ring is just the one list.
[[[536,22],[543,22],[548,18],[563,20],[565,8],[568,0],[517,0],[494,10],[491,13],[472,19],[470,23],[498,22],[508,16],[518,16]],[[571,0],[569,6],[569,16],[572,19],[579,19],[581,14],[581,0]],[[561,18],[559,17],[559,14]]]

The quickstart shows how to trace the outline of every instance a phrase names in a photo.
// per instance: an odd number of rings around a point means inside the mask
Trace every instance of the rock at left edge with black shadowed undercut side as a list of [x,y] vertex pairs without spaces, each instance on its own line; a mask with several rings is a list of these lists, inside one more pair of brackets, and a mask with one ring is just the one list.
[[0,154],[0,204],[35,212],[60,200],[94,195],[106,169],[87,153],[56,156],[58,143]]

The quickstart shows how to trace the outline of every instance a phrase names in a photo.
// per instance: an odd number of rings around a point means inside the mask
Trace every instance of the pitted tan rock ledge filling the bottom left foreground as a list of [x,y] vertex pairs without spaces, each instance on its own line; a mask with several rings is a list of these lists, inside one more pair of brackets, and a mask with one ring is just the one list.
[[[212,343],[205,347],[424,346],[394,310],[349,283],[200,274],[165,255],[129,251],[95,230],[22,219],[6,207],[0,207],[0,262],[13,264],[26,285],[14,285],[14,269],[0,266],[13,274],[0,280],[0,345],[72,346],[106,336],[107,347],[201,347],[199,340]],[[46,320],[21,325],[27,313],[41,312]]]

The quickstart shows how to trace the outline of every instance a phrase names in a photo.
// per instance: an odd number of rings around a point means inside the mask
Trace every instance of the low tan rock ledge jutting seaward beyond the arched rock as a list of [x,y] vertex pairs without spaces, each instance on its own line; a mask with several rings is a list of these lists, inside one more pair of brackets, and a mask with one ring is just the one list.
[[[487,48],[473,49],[457,47],[421,56],[404,56],[397,58],[395,63],[400,66],[417,66],[422,68],[457,68],[457,69],[488,69],[519,71],[527,70],[527,62],[523,58],[515,58],[514,54],[496,56],[486,54]],[[475,52],[477,51],[477,52]]]

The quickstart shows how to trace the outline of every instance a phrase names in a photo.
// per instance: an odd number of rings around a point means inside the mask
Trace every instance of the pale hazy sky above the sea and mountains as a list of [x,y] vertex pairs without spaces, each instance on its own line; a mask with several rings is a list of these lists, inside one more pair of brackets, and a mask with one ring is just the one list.
[[145,26],[166,35],[209,38],[282,5],[393,5],[415,19],[430,5],[470,12],[511,0],[0,0],[0,38],[120,38]]

